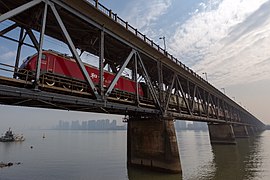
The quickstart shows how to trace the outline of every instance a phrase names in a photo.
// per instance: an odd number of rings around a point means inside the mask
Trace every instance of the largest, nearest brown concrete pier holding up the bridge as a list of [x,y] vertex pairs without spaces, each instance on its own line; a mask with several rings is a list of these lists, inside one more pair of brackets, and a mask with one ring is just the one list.
[[128,120],[129,166],[182,173],[173,120],[131,117]]

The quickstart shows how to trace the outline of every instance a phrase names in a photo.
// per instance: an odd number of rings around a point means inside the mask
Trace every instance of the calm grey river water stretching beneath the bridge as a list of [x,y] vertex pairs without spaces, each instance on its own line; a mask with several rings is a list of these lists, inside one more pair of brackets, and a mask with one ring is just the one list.
[[238,139],[237,145],[215,146],[210,145],[208,131],[178,131],[182,176],[127,169],[126,135],[126,131],[26,131],[24,142],[0,142],[0,162],[21,163],[0,168],[0,180],[270,179],[270,131]]

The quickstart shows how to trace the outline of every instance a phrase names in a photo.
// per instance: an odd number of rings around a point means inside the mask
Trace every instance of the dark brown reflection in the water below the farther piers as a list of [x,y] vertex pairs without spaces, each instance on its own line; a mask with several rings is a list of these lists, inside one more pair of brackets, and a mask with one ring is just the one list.
[[237,139],[237,145],[213,145],[212,179],[258,179],[261,168],[261,142],[259,137]]

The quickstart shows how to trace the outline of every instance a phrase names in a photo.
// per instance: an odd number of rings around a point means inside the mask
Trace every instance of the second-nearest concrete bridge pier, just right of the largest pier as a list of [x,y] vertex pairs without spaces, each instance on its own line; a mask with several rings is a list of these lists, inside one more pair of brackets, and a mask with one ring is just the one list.
[[231,124],[208,124],[211,144],[236,144]]

